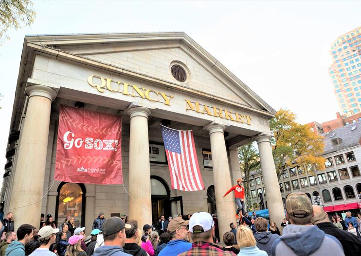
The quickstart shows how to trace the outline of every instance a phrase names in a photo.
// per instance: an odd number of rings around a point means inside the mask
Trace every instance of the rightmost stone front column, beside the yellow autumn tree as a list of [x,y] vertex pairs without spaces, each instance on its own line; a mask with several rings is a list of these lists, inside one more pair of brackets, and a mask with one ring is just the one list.
[[256,137],[256,141],[258,143],[262,175],[265,182],[270,222],[274,221],[277,225],[279,225],[285,218],[285,211],[278,185],[279,182],[276,174],[276,168],[274,167],[270,138],[271,135],[260,135]]

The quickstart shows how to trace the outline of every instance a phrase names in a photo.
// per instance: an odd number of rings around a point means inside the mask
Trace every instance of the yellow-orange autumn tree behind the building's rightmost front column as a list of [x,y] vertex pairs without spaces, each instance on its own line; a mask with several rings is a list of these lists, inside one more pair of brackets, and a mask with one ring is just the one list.
[[323,137],[311,132],[310,127],[296,122],[296,115],[280,109],[270,120],[272,153],[277,177],[289,167],[312,165],[317,170],[325,169]]

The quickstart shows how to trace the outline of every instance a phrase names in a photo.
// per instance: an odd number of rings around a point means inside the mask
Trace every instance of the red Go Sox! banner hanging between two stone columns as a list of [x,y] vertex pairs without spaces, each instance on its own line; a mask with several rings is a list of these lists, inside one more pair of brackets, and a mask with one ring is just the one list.
[[60,106],[55,180],[123,184],[119,116]]

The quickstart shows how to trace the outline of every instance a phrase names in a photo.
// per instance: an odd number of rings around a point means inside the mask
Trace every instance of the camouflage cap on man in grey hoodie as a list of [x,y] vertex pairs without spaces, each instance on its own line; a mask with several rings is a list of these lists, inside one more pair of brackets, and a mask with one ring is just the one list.
[[286,198],[286,212],[298,218],[310,216],[313,213],[311,200],[305,193],[293,192]]

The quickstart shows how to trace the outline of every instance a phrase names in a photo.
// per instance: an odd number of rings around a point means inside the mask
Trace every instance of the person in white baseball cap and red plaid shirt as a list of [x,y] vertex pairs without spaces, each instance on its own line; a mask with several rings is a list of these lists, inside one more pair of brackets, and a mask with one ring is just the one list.
[[215,223],[209,213],[193,214],[189,219],[189,232],[193,243],[192,248],[179,256],[234,256],[234,253],[223,251],[221,246],[213,243]]

